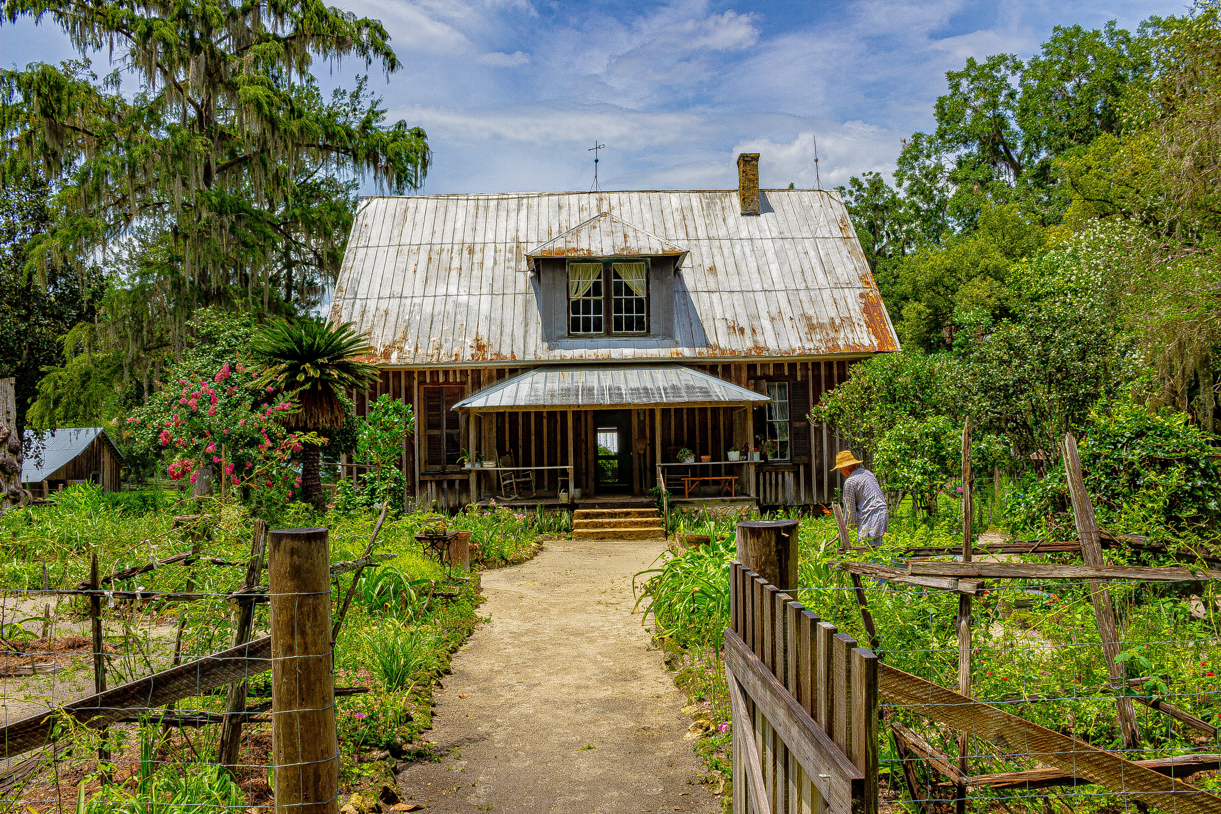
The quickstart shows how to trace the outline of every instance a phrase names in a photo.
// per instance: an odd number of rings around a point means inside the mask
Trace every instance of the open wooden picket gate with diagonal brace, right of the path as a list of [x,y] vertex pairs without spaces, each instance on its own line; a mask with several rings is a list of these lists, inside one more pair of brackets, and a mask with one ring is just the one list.
[[878,657],[741,563],[725,675],[734,814],[878,810]]

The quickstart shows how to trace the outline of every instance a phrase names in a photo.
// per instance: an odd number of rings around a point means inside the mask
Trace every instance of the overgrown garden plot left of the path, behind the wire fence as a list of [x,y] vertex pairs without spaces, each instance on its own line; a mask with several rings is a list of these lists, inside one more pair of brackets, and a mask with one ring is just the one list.
[[[466,528],[476,565],[503,565],[532,556],[538,528],[552,531],[558,522],[507,510],[449,519],[391,513],[364,560],[376,520],[376,513],[359,506],[319,516],[302,504],[286,505],[275,517],[277,526],[331,530],[336,619],[352,592],[335,643],[341,788],[371,791],[374,797],[383,785],[394,786],[388,766],[376,757],[411,751],[430,727],[432,688],[448,670],[449,654],[473,630],[481,600],[476,580],[451,575],[416,535],[441,521]],[[132,709],[125,716],[131,720],[112,724],[105,740],[82,725],[88,716],[77,724],[55,722],[56,708],[96,687],[88,592],[70,593],[89,585],[94,554],[103,591],[111,592],[103,593],[99,615],[106,686],[112,691],[164,671],[176,654],[189,665],[232,647],[243,607],[234,594],[241,596],[247,580],[258,527],[233,495],[182,505],[164,493],[105,495],[89,487],[67,489],[51,505],[0,519],[0,533],[13,541],[11,560],[0,564],[9,644],[0,654],[9,668],[0,676],[4,722],[48,720],[50,714],[53,729],[60,727],[57,742],[73,747],[57,752],[54,763],[49,747],[9,755],[0,764],[0,799],[20,799],[34,812],[76,812],[78,791],[84,790],[81,810],[90,813],[143,810],[154,798],[242,808],[270,801],[270,674],[249,677],[232,773],[220,766],[217,752],[227,681],[172,704]],[[352,565],[360,561],[368,566]],[[154,563],[156,567],[148,567]],[[266,576],[254,585],[254,593],[265,592]],[[44,625],[54,631],[50,646]],[[248,637],[258,639],[266,631],[267,605],[255,602]],[[45,664],[48,672],[12,675],[34,663]],[[99,748],[109,751],[100,763]],[[156,794],[164,796],[150,797],[149,777],[158,779],[162,791]]]

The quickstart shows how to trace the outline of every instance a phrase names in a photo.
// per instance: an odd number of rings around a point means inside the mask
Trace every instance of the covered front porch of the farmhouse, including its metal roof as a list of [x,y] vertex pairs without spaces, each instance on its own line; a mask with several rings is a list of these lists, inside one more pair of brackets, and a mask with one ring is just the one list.
[[[768,397],[683,366],[540,367],[473,393],[465,469],[471,502],[534,508],[653,505],[756,495],[751,408]],[[679,464],[689,449],[695,464]],[[453,477],[453,475],[451,475]],[[675,494],[676,489],[676,494]]]

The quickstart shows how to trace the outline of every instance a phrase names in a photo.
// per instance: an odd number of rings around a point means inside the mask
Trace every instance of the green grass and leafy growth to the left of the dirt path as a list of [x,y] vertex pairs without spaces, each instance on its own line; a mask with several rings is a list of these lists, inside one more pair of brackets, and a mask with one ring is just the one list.
[[[189,582],[195,592],[212,596],[178,604],[155,600],[133,607],[132,603],[120,602],[110,607],[107,603],[103,614],[105,637],[107,648],[115,650],[107,659],[107,677],[114,686],[167,666],[179,624],[184,660],[228,647],[233,638],[233,614],[225,597],[241,585],[249,558],[254,519],[236,502],[208,500],[197,505],[178,503],[178,497],[177,493],[151,491],[107,495],[90,487],[72,487],[56,495],[49,505],[28,506],[0,517],[0,538],[6,543],[0,553],[0,593],[10,597],[0,625],[7,626],[6,632],[15,639],[28,639],[40,631],[40,611],[37,616],[24,613],[12,615],[12,594],[40,589],[44,572],[45,585],[50,588],[74,587],[88,577],[89,559],[94,553],[98,554],[100,572],[107,575],[150,559],[189,550],[194,542],[192,531],[189,527],[176,528],[173,517],[203,513],[210,515],[199,526],[203,556],[238,566],[206,560],[187,567],[172,565],[115,585],[117,589],[143,587],[173,592],[186,589]],[[482,598],[471,581],[451,582],[446,566],[427,555],[415,539],[416,533],[437,519],[426,513],[387,517],[375,550],[389,553],[393,558],[363,572],[355,600],[336,641],[337,686],[369,688],[364,694],[341,697],[336,702],[341,781],[349,790],[364,786],[380,790],[381,783],[392,781],[385,774],[385,762],[364,760],[361,753],[387,748],[400,753],[411,751],[410,744],[431,726],[435,683],[448,672],[452,653],[479,621],[476,609]],[[363,554],[376,514],[332,511],[320,516],[303,504],[291,504],[271,522],[274,527],[328,527],[330,555],[335,563]],[[562,517],[549,515],[542,520],[543,526],[552,524],[551,527],[563,522]],[[534,515],[526,517],[496,509],[463,514],[449,519],[449,524],[451,527],[474,530],[476,542],[484,546],[485,561],[493,565],[520,561],[537,550],[535,543],[540,522]],[[352,578],[352,575],[344,575],[333,580],[332,596],[341,598]],[[37,602],[40,607],[42,598]],[[88,619],[82,600],[63,599],[59,605],[55,600],[51,603],[56,636],[85,632]],[[266,614],[267,605],[256,605],[256,636],[266,630]],[[253,683],[259,687],[266,680],[266,676],[260,676]],[[6,680],[4,688],[10,703],[22,697],[29,702],[44,697],[50,702],[77,685],[82,688],[92,685],[92,670],[83,657],[73,659],[62,672],[20,682]],[[73,692],[79,692],[79,688]],[[222,711],[223,703],[223,693],[211,693],[183,699],[178,707],[182,710]],[[265,730],[266,725],[261,729]],[[154,802],[158,812],[167,814],[203,812],[205,808],[215,810],[215,805],[222,804],[217,801],[232,792],[232,788],[194,765],[212,759],[208,746],[215,746],[217,726],[184,732],[184,742],[193,744],[198,754],[190,749],[175,752],[177,757],[162,754],[156,771],[144,781],[137,780],[144,776],[138,768],[142,765],[144,742],[134,736],[137,730],[137,725],[112,730],[112,736],[123,731],[129,731],[131,736],[126,746],[114,748],[117,783],[100,783],[96,763],[89,758],[90,748],[74,749],[73,757],[60,771],[60,782],[67,783],[61,794],[65,807],[61,810],[73,808],[77,785],[85,792],[83,812],[147,812],[151,810],[149,805]],[[260,726],[254,725],[245,731],[256,735],[259,730]],[[154,726],[153,731],[160,738],[158,748],[162,753],[167,743],[179,743],[176,731],[170,733],[168,740],[161,737],[158,727]],[[73,731],[71,737],[78,746],[93,744],[92,735],[85,730]],[[243,759],[266,760],[266,753],[252,753]],[[128,774],[132,779],[123,780]],[[90,776],[93,780],[89,780]],[[140,782],[145,785],[140,786]],[[54,788],[50,796],[56,796]],[[45,794],[42,797],[45,798]],[[239,797],[242,805],[253,804],[245,791]]]

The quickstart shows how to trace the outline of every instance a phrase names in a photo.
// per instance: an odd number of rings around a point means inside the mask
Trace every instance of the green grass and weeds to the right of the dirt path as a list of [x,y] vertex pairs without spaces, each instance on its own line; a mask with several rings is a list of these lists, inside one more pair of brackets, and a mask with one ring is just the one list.
[[[845,560],[901,564],[913,546],[961,546],[961,517],[952,500],[933,517],[912,516],[904,506],[891,519],[886,544],[879,550],[840,554],[838,530],[830,516],[807,516],[799,527],[801,589],[797,598],[840,632],[868,641],[851,582],[838,565]],[[1001,517],[1002,505],[990,506]],[[679,554],[667,553],[637,575],[641,604],[652,603],[646,619],[654,643],[667,652],[675,681],[702,715],[713,721],[696,751],[714,773],[731,776],[725,724],[731,719],[724,699],[724,666],[719,633],[728,626],[728,563],[735,556],[733,531],[705,517],[680,517],[679,533],[705,533],[711,543]],[[1137,564],[1132,552],[1107,552],[1116,564]],[[1031,561],[1073,561],[1071,555],[1026,558]],[[1159,563],[1161,564],[1161,563]],[[947,687],[957,685],[957,633],[954,620],[958,597],[899,583],[866,580],[869,609],[882,637],[888,664]],[[1110,592],[1125,649],[1121,661],[1129,677],[1149,677],[1132,691],[1160,697],[1221,724],[1221,618],[1216,583],[1112,582]],[[1115,691],[1103,658],[1088,583],[1072,580],[1004,581],[977,599],[973,608],[972,694],[1042,726],[1062,731],[1104,749],[1122,748]],[[1194,608],[1194,611],[1193,611]],[[1145,752],[1165,757],[1215,752],[1216,743],[1166,715],[1137,705]],[[956,754],[952,732],[924,719],[891,710],[921,731],[934,746]],[[883,787],[891,799],[906,797],[899,765],[885,727],[880,727]],[[1017,771],[1034,765],[1017,754],[983,744],[972,759],[972,774]],[[922,765],[921,771],[927,770]],[[1221,773],[1193,776],[1194,785],[1221,788]],[[893,777],[894,782],[888,782]],[[935,774],[928,774],[937,782]],[[1090,787],[1076,798],[1076,810],[1109,812],[1117,798]],[[728,796],[728,794],[726,794]],[[976,810],[999,805],[985,790],[972,792]],[[1046,792],[1004,792],[1009,810],[1042,810]]]

